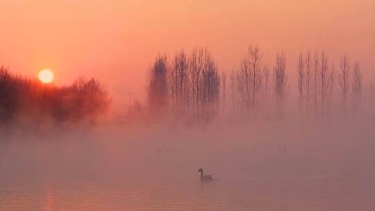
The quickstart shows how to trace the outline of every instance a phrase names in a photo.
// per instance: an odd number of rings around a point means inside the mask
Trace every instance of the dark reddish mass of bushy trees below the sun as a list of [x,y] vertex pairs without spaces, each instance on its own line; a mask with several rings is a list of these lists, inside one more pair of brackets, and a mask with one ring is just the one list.
[[109,105],[106,90],[94,78],[78,78],[72,85],[57,87],[0,67],[1,124],[25,119],[57,124],[94,121]]

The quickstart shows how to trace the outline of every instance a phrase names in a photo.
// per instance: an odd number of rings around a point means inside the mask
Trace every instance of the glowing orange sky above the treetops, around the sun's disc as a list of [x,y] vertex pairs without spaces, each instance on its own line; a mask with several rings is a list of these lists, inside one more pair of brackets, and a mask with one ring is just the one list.
[[58,85],[100,78],[115,103],[142,98],[158,52],[208,47],[231,70],[249,44],[266,62],[284,50],[290,71],[300,50],[326,49],[336,66],[346,53],[375,76],[375,1],[0,1],[1,64],[26,76],[52,69]]

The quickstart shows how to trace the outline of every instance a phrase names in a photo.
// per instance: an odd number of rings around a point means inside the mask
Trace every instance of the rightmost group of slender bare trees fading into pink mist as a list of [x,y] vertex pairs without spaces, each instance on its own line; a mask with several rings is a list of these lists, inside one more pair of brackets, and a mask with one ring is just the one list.
[[359,62],[342,56],[335,67],[325,51],[306,51],[300,53],[297,67],[299,108],[306,118],[373,115],[372,80],[363,82]]

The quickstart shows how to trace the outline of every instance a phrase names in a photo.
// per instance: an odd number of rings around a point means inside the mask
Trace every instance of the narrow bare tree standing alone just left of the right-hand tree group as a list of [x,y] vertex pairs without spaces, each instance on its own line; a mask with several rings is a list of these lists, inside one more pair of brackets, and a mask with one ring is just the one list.
[[276,114],[278,117],[281,117],[283,112],[283,101],[285,99],[285,89],[288,81],[285,65],[285,54],[283,52],[278,53],[274,66],[274,90],[276,95]]

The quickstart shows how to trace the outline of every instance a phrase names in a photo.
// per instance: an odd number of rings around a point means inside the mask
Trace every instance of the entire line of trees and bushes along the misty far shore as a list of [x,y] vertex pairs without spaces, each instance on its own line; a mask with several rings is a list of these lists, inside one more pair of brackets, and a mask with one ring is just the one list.
[[[359,62],[343,56],[337,64],[325,51],[301,52],[294,64],[287,64],[281,51],[273,64],[266,64],[256,46],[248,48],[233,71],[219,71],[205,48],[181,50],[171,57],[158,55],[147,75],[147,115],[135,101],[128,117],[136,119],[134,114],[142,113],[146,118],[187,122],[216,117],[269,119],[287,116],[286,108],[296,108],[299,112],[292,115],[299,113],[306,121],[373,116],[373,83],[363,80]],[[291,93],[297,94],[297,101]],[[94,121],[109,107],[106,89],[94,78],[57,87],[0,67],[0,123],[47,117],[58,123]]]

